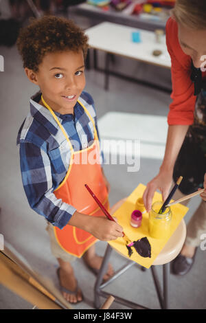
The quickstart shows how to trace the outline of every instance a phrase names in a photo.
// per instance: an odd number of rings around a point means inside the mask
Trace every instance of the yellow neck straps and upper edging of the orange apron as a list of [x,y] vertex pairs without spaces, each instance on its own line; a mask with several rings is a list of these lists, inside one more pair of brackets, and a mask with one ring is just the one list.
[[[69,169],[67,170],[67,174],[66,174],[65,178],[62,180],[62,182],[60,183],[60,185],[58,186],[58,188],[56,188],[56,190],[54,190],[54,192],[56,192],[59,188],[61,188],[64,185],[65,181],[67,181],[67,177],[69,176],[69,173],[71,171],[71,166],[72,166],[72,163],[73,163],[73,155],[76,154],[76,153],[80,153],[80,151],[76,151],[76,152],[73,151],[73,146],[72,146],[72,144],[71,144],[71,142],[69,140],[69,137],[67,136],[67,133],[66,133],[64,127],[62,126],[62,124],[60,124],[58,118],[56,117],[56,114],[49,107],[49,104],[47,104],[47,102],[45,102],[45,100],[43,98],[43,95],[41,95],[41,100],[43,101],[43,104],[45,104],[45,107],[47,107],[47,109],[49,110],[49,112],[52,113],[52,116],[53,116],[54,120],[57,122],[57,124],[60,127],[62,133],[65,135],[65,138],[66,138],[66,140],[69,143],[69,146],[71,148],[71,163],[69,165]],[[84,111],[89,116],[89,119],[91,120],[91,122],[93,124],[93,129],[94,129],[94,142],[93,142],[93,144],[91,146],[85,148],[85,149],[82,149],[81,152],[83,152],[84,150],[87,151],[87,150],[91,149],[93,147],[93,145],[95,144],[95,140],[98,141],[98,147],[100,149],[100,142],[98,140],[98,132],[97,132],[96,127],[95,127],[95,122],[94,122],[93,118],[91,117],[91,114],[89,113],[89,111],[87,111],[87,109],[84,107],[84,104],[82,104],[82,102],[80,102],[79,100],[78,100],[78,103],[82,106],[82,108],[84,109]]]

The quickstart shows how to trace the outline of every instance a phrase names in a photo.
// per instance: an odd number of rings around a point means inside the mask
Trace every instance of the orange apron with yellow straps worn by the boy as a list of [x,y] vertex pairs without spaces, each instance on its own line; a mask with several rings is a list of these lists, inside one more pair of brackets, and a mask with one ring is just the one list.
[[[84,184],[87,183],[98,199],[100,199],[104,207],[108,209],[108,192],[106,190],[100,164],[100,142],[98,140],[98,133],[93,118],[80,100],[78,100],[78,103],[83,107],[93,123],[94,142],[88,148],[82,149],[82,151],[73,151],[69,137],[62,124],[60,124],[54,111],[45,102],[43,96],[41,98],[45,107],[49,109],[58,123],[58,126],[60,126],[71,150],[71,161],[69,169],[67,170],[67,175],[62,183],[60,183],[60,186],[54,190],[56,198],[62,199],[63,202],[73,205],[80,213],[89,214],[91,216],[104,216],[93,197],[91,197],[84,187]],[[98,240],[89,234],[89,232],[79,229],[78,227],[73,227],[72,225],[65,225],[62,230],[58,227],[54,227],[54,232],[60,247],[62,247],[65,252],[78,258]]]

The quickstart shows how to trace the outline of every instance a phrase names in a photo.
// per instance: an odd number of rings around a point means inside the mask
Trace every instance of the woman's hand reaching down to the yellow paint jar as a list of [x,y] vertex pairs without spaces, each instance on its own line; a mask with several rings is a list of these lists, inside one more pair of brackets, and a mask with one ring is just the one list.
[[169,190],[172,184],[172,173],[170,172],[159,172],[159,174],[150,181],[143,194],[144,206],[147,212],[150,212],[152,206],[152,199],[156,190],[160,190],[162,199],[168,197]]

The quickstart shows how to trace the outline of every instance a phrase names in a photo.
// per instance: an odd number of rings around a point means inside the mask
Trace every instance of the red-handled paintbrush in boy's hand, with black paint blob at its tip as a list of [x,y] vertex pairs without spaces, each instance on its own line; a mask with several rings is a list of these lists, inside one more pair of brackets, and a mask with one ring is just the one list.
[[[84,186],[87,188],[87,190],[89,191],[89,193],[91,194],[93,199],[96,201],[96,203],[98,203],[98,205],[100,206],[100,209],[102,210],[102,212],[104,212],[107,219],[110,220],[110,221],[115,221],[115,219],[113,219],[111,214],[108,213],[106,208],[104,208],[104,205],[102,205],[100,200],[92,192],[91,188],[89,188],[89,186],[87,184],[84,184]],[[124,238],[124,241],[126,242],[126,248],[128,249],[128,256],[129,257],[133,254],[133,250],[132,250],[131,247],[134,247],[136,252],[138,254],[140,254],[140,256],[142,256],[142,257],[151,257],[151,246],[150,246],[150,243],[149,243],[149,241],[148,241],[148,239],[146,237],[141,238],[138,241],[130,241],[128,236],[126,236],[126,234],[124,232],[122,232],[122,233],[123,233],[122,238]]]

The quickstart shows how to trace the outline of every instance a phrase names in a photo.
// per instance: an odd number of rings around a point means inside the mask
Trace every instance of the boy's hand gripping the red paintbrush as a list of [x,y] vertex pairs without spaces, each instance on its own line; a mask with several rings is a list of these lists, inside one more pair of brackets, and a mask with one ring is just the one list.
[[102,241],[115,240],[123,236],[121,225],[102,216],[90,216],[87,231]]

